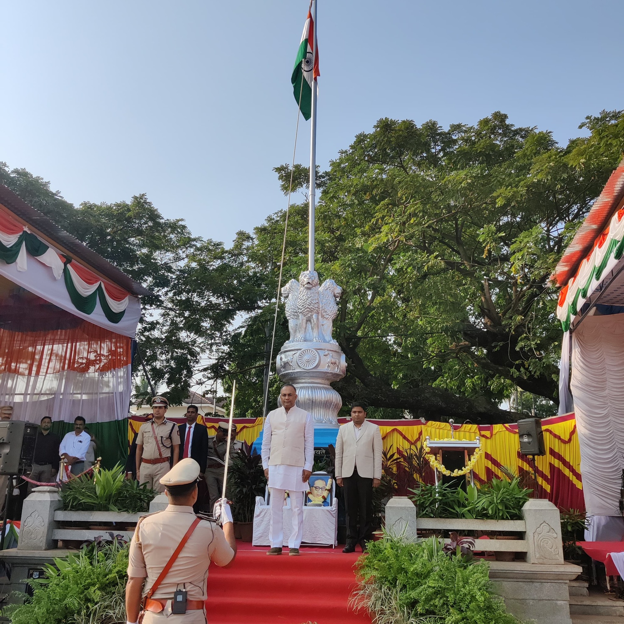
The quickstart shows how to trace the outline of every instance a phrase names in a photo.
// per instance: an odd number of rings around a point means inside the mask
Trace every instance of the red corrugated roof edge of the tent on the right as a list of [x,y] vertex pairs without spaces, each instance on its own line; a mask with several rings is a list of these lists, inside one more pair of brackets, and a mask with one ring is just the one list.
[[610,175],[600,197],[593,203],[583,225],[574,236],[572,243],[559,261],[552,280],[557,286],[565,286],[576,273],[578,265],[592,250],[594,241],[607,227],[619,203],[624,198],[624,158]]

